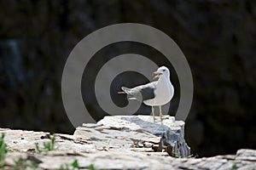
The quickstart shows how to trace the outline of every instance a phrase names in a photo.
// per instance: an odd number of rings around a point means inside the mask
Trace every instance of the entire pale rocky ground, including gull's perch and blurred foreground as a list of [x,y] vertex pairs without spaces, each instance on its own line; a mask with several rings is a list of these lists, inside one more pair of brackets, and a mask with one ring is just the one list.
[[[183,127],[183,122],[169,116],[162,124],[154,123],[150,116],[107,116],[97,124],[83,124],[73,135],[56,134],[56,150],[42,153],[36,152],[35,143],[43,147],[50,141],[49,133],[0,128],[9,148],[3,168],[60,169],[77,160],[81,169],[91,164],[96,169],[256,169],[256,150],[185,157],[189,147],[183,139]],[[18,160],[23,164],[17,164]]]

